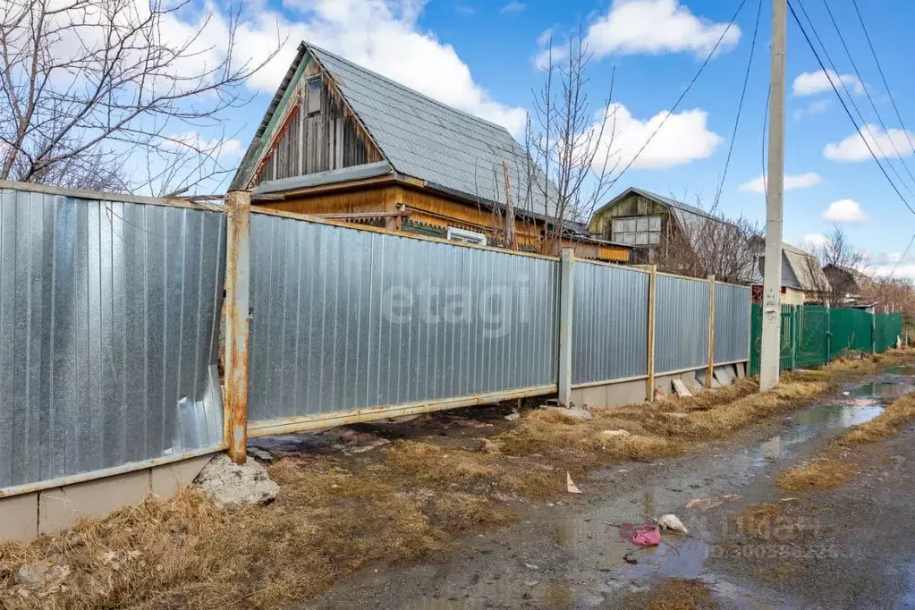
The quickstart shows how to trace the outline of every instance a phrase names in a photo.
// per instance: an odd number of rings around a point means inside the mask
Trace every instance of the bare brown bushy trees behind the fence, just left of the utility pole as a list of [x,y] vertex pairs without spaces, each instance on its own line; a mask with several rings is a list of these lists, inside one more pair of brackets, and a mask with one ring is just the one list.
[[709,216],[713,218],[696,216],[668,230],[657,249],[658,268],[690,277],[715,275],[716,280],[730,284],[750,284],[757,274],[756,241],[762,236],[759,226],[746,216],[717,216],[714,209]]

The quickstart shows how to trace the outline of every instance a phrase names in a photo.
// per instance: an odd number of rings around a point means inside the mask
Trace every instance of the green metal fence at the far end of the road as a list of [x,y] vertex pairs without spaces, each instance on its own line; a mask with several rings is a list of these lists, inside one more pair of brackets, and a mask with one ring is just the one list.
[[[762,305],[751,305],[749,374],[759,375]],[[871,314],[823,305],[781,305],[782,370],[816,367],[846,351],[882,353],[896,347],[902,314]]]

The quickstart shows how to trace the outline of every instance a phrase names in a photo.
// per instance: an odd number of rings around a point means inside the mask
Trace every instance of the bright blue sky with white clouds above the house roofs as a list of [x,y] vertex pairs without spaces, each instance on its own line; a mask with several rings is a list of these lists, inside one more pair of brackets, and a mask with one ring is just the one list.
[[[604,110],[615,73],[612,103],[618,127],[612,149],[625,165],[720,38],[684,101],[608,198],[635,186],[705,209],[714,204],[752,53],[718,211],[745,215],[761,226],[771,3],[761,3],[755,47],[759,0],[746,0],[734,26],[727,27],[739,5],[739,0],[248,0],[242,8],[239,55],[260,61],[280,40],[285,44],[248,83],[252,102],[225,117],[238,140],[226,147],[226,154],[242,155],[301,39],[500,123],[520,137],[532,90],[544,79],[539,67],[544,41],[552,37],[554,47],[561,48],[581,31],[593,53],[587,92],[596,117]],[[858,0],[889,90],[850,0],[829,3],[847,53],[825,1],[803,0],[802,5],[834,61],[834,83],[841,82],[841,91],[847,90],[860,109],[868,141],[877,156],[886,157],[882,162],[889,176],[915,209],[915,178],[910,175],[915,174],[915,80],[910,78],[915,54],[908,39],[915,3]],[[192,26],[199,11],[207,9],[212,5],[188,9],[181,18]],[[213,31],[205,36],[217,46],[223,44],[219,25],[219,20],[216,26],[210,23]],[[915,247],[900,260],[915,233],[915,212],[906,208],[867,152],[790,15],[786,72],[784,241],[814,243],[838,226],[867,251],[878,272],[887,273],[898,263],[897,273],[915,278]]]

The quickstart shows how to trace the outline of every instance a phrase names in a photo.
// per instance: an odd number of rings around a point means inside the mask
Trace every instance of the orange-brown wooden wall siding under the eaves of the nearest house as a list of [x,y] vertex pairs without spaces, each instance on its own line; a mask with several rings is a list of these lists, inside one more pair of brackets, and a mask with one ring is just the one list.
[[[403,206],[409,213],[408,224],[415,232],[445,237],[448,227],[473,230],[486,235],[492,245],[500,245],[504,234],[501,220],[490,210],[442,197],[419,187],[390,184],[366,186],[342,192],[290,196],[285,201],[269,201],[258,205],[297,214],[390,212]],[[541,250],[543,230],[539,223],[519,219],[515,230],[519,247],[526,251]],[[630,260],[629,249],[621,246],[568,240],[563,240],[562,246],[574,247],[576,255],[582,258],[608,262]],[[554,253],[558,255],[558,252]]]

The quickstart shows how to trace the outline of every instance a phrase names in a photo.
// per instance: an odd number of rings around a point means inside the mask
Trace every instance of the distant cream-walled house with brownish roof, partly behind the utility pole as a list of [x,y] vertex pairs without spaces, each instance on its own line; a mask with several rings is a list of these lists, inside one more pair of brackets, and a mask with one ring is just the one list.
[[[762,302],[762,278],[766,265],[766,243],[762,238],[753,240],[759,251],[759,264],[753,279],[753,301]],[[823,303],[830,291],[829,280],[820,268],[819,260],[810,252],[787,243],[781,244],[781,303],[804,305]]]

